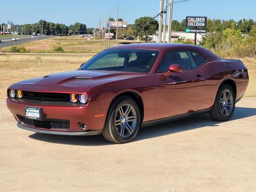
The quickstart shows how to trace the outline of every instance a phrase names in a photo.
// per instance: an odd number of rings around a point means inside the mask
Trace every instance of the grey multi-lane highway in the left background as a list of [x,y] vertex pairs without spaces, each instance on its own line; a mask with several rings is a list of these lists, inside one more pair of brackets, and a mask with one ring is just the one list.
[[12,41],[12,37],[2,38],[2,43],[0,43],[0,46],[1,46],[1,48],[4,48],[4,47],[14,46],[14,45],[34,41],[34,40],[47,39],[47,38],[51,38],[51,37],[54,37],[54,36],[50,36],[50,35],[24,36],[24,37],[20,36],[20,37],[16,37],[16,38],[18,38],[18,40],[16,40],[16,41]]

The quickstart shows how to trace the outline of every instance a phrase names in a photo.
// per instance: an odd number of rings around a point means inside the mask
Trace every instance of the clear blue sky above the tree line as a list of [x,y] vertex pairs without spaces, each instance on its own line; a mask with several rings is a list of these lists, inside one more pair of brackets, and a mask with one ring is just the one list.
[[[169,2],[170,0],[168,0]],[[178,2],[180,0],[174,0]],[[100,15],[119,18],[133,24],[136,18],[156,16],[159,0],[2,0],[0,3],[0,23],[12,21],[14,24],[36,23],[40,19],[66,25],[75,22],[95,27]],[[207,16],[208,18],[256,20],[256,0],[190,0],[174,4],[173,20],[181,21],[186,16]],[[158,18],[156,18],[158,20]]]

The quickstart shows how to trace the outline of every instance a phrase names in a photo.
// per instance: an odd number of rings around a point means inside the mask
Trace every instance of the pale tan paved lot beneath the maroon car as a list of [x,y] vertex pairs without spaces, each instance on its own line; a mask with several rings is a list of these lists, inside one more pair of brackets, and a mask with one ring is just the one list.
[[21,130],[3,99],[0,108],[2,192],[256,189],[256,98],[228,122],[196,116],[142,128],[127,144]]

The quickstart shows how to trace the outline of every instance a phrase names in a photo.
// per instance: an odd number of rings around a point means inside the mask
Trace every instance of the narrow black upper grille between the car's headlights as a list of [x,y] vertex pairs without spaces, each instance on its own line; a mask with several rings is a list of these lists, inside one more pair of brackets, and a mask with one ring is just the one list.
[[38,93],[23,91],[23,98],[41,101],[70,102],[70,94],[61,93]]

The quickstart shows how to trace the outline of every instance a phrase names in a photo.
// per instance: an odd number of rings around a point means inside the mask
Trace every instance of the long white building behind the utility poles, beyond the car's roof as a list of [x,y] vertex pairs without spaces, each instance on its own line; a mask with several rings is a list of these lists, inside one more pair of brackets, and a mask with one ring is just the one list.
[[[204,34],[203,33],[197,33],[196,34],[196,42],[200,42],[202,40],[202,36]],[[153,41],[158,42],[158,31],[156,32],[156,35],[150,36],[153,38]],[[164,33],[162,32],[162,42],[164,38]],[[194,33],[186,33],[186,32],[172,32],[172,38],[171,38],[171,42],[174,42],[180,38],[184,38],[185,40],[191,40],[192,42],[194,42],[195,39],[195,34]],[[168,41],[168,32],[166,32],[165,35],[165,42]]]

